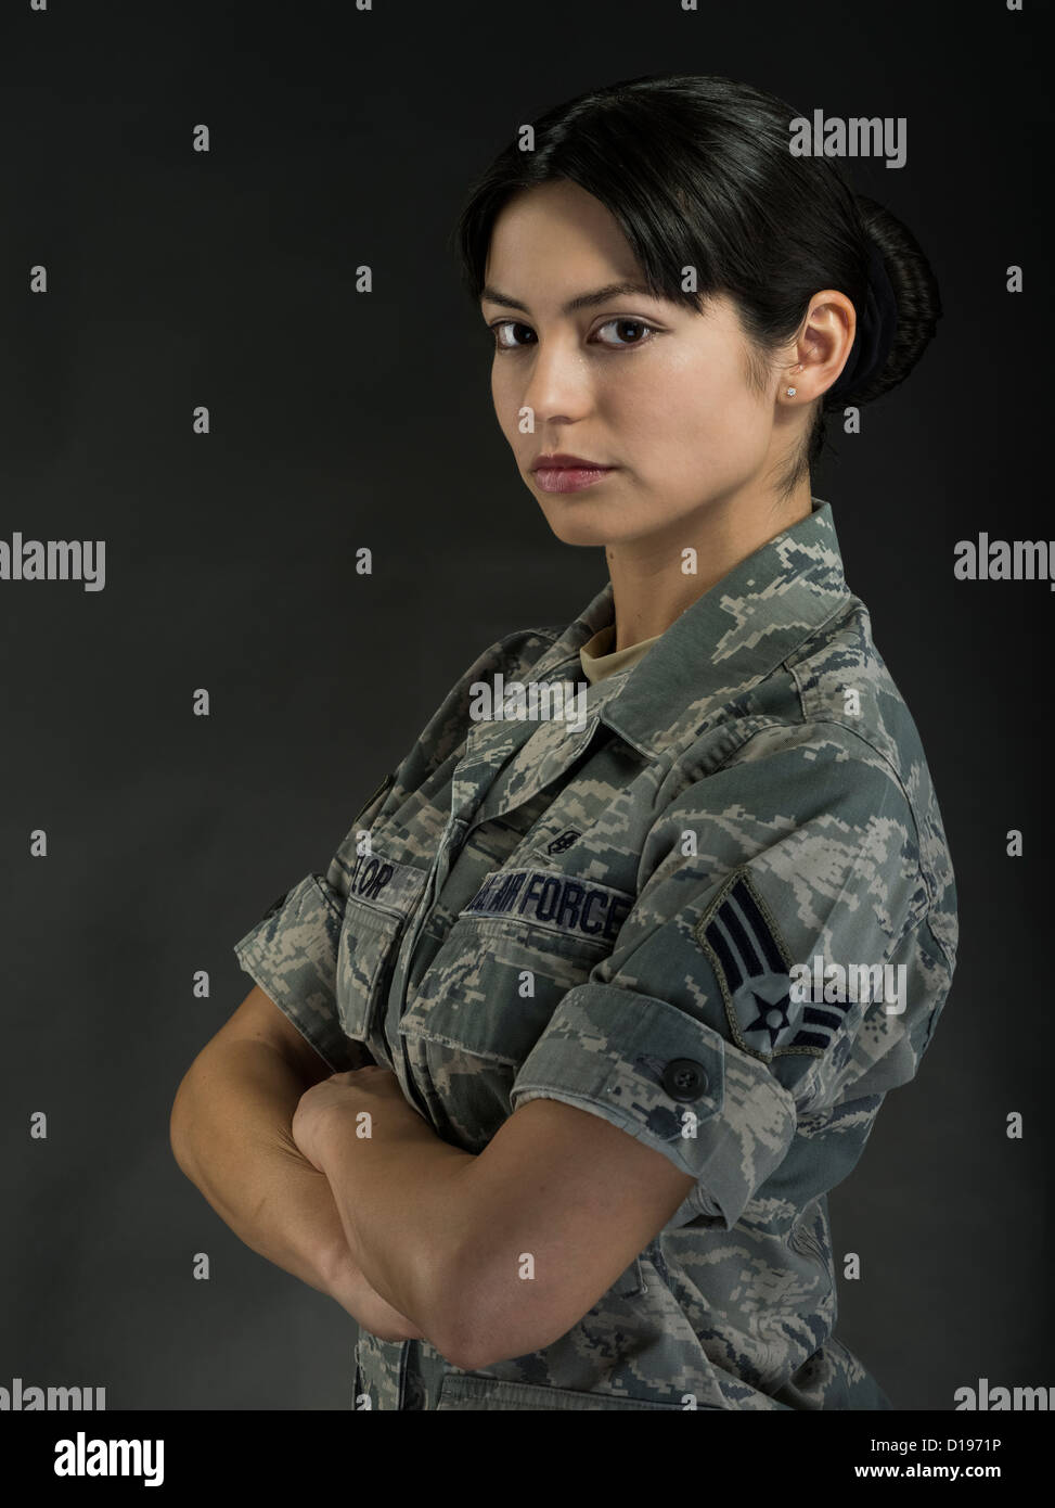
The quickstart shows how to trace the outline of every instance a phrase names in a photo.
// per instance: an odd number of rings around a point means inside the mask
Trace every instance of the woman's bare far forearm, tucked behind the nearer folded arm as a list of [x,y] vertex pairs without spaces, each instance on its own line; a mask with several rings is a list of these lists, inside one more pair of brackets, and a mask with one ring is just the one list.
[[292,1140],[304,1087],[265,1042],[209,1042],[172,1107],[176,1161],[253,1252],[336,1298],[375,1335],[420,1336],[354,1268],[330,1184]]

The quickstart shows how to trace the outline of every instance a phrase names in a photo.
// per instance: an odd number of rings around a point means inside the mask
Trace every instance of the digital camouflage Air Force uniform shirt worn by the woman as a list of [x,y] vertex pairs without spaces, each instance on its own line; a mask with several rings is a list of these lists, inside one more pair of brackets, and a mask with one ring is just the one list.
[[[466,1372],[360,1329],[357,1407],[889,1408],[832,1333],[826,1196],[953,976],[919,734],[820,499],[589,686],[585,727],[515,716],[514,682],[586,685],[612,618],[606,584],[485,650],[327,872],[235,946],[335,1072],[390,1068],[443,1140],[482,1152],[546,1096],[696,1181],[546,1350]],[[473,716],[499,676],[512,715]],[[891,965],[900,1001],[838,998],[852,965]]]

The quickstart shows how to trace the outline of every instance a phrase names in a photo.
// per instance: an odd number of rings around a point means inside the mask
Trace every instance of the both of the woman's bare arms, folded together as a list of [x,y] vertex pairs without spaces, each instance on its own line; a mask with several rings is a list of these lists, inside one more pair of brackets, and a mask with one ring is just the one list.
[[252,1250],[464,1371],[565,1335],[693,1185],[556,1099],[521,1102],[478,1157],[452,1148],[393,1074],[330,1074],[259,986],[184,1075],[170,1139]]

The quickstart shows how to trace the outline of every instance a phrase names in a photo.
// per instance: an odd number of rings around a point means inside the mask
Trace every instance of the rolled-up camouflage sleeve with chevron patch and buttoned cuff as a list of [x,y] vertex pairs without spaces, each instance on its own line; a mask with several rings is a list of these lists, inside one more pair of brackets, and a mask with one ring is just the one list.
[[799,1114],[833,1104],[906,1030],[882,1004],[797,998],[791,970],[897,955],[925,909],[915,825],[852,734],[766,730],[671,801],[642,872],[613,952],[558,1001],[511,1104],[601,1116],[696,1181],[672,1224],[731,1229]]

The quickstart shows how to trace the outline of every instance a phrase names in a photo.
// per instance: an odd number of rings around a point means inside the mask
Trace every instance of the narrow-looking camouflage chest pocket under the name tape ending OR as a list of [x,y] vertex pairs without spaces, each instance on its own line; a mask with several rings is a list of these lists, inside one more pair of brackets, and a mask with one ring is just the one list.
[[427,879],[424,869],[396,863],[377,847],[357,857],[338,942],[338,1016],[345,1036],[369,1041]]

